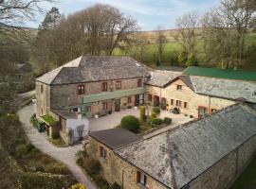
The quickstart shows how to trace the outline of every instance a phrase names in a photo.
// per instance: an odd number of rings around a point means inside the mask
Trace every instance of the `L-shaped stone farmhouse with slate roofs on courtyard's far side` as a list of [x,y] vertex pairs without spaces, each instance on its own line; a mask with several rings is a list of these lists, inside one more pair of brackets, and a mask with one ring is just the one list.
[[253,105],[256,82],[154,71],[129,57],[82,56],[36,78],[36,97],[37,118],[69,143],[70,134],[73,141],[87,135],[89,119],[140,104],[195,118],[240,101]]

